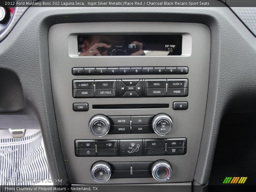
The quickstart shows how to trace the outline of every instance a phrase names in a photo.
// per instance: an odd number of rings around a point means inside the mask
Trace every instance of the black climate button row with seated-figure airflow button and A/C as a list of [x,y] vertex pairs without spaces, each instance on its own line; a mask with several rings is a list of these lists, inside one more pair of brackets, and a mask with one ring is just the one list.
[[75,140],[76,156],[185,155],[186,138],[131,140]]

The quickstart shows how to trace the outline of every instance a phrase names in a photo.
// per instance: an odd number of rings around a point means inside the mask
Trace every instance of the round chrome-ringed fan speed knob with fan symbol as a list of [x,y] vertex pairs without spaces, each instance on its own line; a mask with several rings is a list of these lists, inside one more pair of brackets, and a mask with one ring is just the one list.
[[106,182],[111,176],[111,166],[105,161],[98,161],[92,165],[91,173],[95,181]]

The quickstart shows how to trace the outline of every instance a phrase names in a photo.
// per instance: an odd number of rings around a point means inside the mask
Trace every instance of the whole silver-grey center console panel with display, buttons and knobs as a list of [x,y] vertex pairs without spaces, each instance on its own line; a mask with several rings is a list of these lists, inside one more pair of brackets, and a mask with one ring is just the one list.
[[209,28],[198,23],[50,28],[53,101],[71,184],[193,180],[210,40]]

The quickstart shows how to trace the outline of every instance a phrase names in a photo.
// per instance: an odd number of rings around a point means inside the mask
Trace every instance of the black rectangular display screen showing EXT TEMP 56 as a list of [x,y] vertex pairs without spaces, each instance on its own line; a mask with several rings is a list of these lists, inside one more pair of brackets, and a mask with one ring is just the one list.
[[182,35],[79,35],[79,56],[181,55]]

